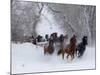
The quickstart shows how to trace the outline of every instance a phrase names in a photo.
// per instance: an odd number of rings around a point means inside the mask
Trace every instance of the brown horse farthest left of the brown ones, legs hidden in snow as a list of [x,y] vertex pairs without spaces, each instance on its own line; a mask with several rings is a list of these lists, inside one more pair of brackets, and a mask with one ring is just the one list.
[[44,54],[52,54],[54,52],[53,39],[49,39],[49,45],[44,46]]

